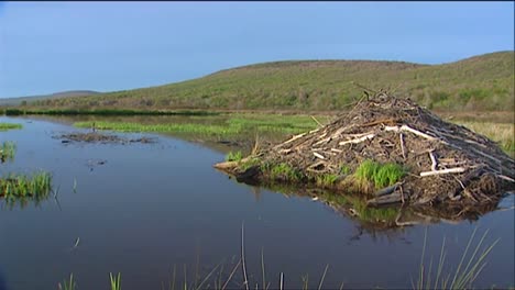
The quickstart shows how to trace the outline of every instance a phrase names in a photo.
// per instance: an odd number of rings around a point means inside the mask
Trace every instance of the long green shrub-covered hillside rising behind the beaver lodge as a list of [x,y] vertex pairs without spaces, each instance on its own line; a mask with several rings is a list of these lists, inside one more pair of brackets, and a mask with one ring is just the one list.
[[58,108],[339,110],[362,96],[352,82],[397,88],[438,110],[514,110],[514,52],[443,65],[376,60],[302,60],[226,69],[158,87],[62,98],[35,105]]

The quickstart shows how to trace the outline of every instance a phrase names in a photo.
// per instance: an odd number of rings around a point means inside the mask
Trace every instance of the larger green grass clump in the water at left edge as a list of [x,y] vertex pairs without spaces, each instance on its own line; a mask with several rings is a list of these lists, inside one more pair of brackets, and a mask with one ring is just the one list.
[[42,199],[51,192],[52,176],[40,171],[32,177],[10,174],[0,179],[0,197],[6,200],[23,198]]

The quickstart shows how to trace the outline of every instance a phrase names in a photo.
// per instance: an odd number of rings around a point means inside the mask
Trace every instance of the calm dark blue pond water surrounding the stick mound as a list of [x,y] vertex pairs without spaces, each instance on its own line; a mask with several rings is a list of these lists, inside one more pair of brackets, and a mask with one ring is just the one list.
[[[227,278],[240,258],[242,225],[252,289],[262,288],[263,265],[271,288],[281,272],[287,289],[302,288],[303,277],[318,288],[326,266],[324,288],[412,288],[425,237],[426,267],[430,257],[438,264],[445,238],[446,266],[456,269],[474,230],[470,252],[485,231],[483,245],[498,239],[475,287],[515,285],[513,194],[501,204],[512,210],[476,221],[374,230],[309,197],[229,179],[212,168],[227,153],[220,144],[147,133],[120,136],[155,143],[62,143],[56,135],[88,132],[72,121],[0,118],[23,125],[0,133],[0,142],[17,144],[2,176],[44,169],[56,192],[39,203],[0,201],[0,281],[9,290],[56,289],[70,272],[79,289],[106,289],[109,272],[121,272],[122,289],[167,289],[174,267],[176,281],[186,267],[193,286],[219,264]],[[215,288],[220,269],[202,287]],[[228,288],[242,280],[238,268]]]

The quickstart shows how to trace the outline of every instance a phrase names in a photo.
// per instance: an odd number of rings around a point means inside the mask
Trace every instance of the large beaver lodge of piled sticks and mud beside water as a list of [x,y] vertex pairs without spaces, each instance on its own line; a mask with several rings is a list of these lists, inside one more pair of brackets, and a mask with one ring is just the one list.
[[484,213],[514,188],[514,160],[485,136],[385,91],[328,125],[215,165],[248,183],[359,192],[368,207]]

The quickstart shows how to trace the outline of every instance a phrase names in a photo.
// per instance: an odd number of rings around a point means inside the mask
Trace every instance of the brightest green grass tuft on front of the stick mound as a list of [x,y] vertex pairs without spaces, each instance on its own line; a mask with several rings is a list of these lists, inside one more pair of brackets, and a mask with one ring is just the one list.
[[392,186],[405,175],[405,169],[398,164],[380,164],[370,159],[364,160],[354,174],[359,182],[372,181],[376,189]]

